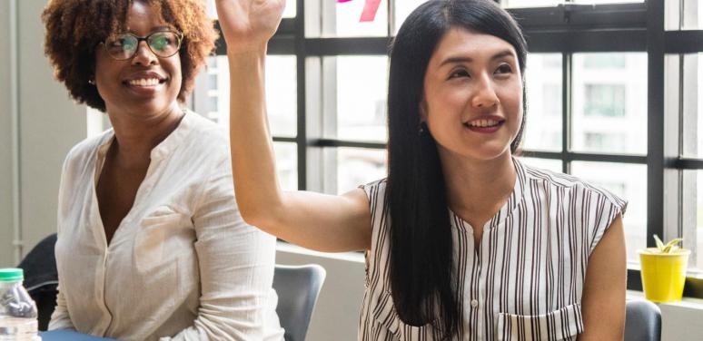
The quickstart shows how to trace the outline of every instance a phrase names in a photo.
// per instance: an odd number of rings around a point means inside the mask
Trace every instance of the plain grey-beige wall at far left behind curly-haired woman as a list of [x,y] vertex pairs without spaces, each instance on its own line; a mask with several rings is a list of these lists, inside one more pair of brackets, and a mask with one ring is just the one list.
[[[16,20],[10,11],[16,5]],[[64,86],[54,81],[44,55],[44,25],[40,15],[46,2],[0,2],[0,266],[18,261],[12,245],[12,211],[18,209],[25,254],[39,240],[56,229],[56,193],[59,174],[66,153],[86,133],[86,109],[68,98]],[[18,33],[17,48],[6,42]],[[12,63],[15,54],[16,65]],[[15,66],[15,67],[13,67]],[[16,83],[8,81],[15,72]],[[11,94],[16,92],[17,122],[12,124]],[[18,145],[7,143],[13,132],[19,134]],[[11,140],[10,140],[11,141]],[[8,146],[10,146],[8,151]],[[15,163],[12,153],[19,155]],[[9,156],[9,157],[8,157]],[[19,177],[17,193],[12,188],[12,170]],[[9,171],[8,171],[9,169]],[[7,180],[10,183],[7,183]],[[10,197],[8,198],[8,194]],[[18,207],[14,205],[18,204]]]

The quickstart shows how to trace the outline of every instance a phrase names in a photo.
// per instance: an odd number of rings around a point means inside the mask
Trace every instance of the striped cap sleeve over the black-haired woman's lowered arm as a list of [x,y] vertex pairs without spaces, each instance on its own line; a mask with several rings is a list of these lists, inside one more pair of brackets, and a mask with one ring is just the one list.
[[603,238],[606,230],[613,223],[618,215],[625,215],[628,209],[628,201],[619,198],[608,190],[599,190],[592,195],[593,222],[590,225],[590,247],[589,255]]

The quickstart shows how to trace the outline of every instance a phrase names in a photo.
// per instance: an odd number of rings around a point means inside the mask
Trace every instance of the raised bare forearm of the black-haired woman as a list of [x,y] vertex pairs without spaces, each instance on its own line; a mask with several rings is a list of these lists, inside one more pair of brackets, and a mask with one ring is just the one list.
[[272,140],[266,119],[264,92],[265,48],[229,52],[230,145],[237,204],[243,218],[265,230],[263,221],[280,207]]

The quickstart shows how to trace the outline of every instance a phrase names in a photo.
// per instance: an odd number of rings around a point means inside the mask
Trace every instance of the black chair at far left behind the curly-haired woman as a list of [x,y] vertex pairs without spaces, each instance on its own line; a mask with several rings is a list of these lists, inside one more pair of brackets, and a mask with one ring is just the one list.
[[39,313],[39,330],[46,330],[51,321],[51,314],[56,307],[58,293],[58,273],[54,245],[56,234],[51,234],[40,241],[22,259],[17,268],[25,270],[25,288],[36,302]]

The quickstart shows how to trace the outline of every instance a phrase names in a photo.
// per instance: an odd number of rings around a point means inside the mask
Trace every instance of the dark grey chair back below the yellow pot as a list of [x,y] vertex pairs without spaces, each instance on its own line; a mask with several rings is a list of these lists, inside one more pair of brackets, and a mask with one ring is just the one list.
[[625,341],[659,341],[661,310],[652,302],[633,300],[626,304]]

